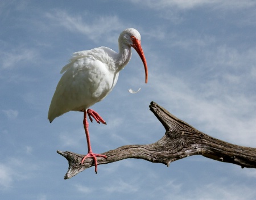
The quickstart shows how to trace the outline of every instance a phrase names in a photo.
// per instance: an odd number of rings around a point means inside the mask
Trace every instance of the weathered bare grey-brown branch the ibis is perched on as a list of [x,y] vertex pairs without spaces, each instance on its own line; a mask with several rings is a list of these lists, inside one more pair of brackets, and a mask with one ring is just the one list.
[[[203,155],[210,159],[237,164],[242,168],[256,168],[256,148],[238,146],[210,137],[181,121],[154,102],[151,102],[150,110],[166,129],[164,137],[152,144],[127,145],[102,153],[108,156],[108,159],[97,158],[98,165],[127,158],[137,158],[169,166],[175,160],[192,155]],[[91,158],[86,159],[80,165],[85,155],[69,151],[57,151],[57,153],[64,156],[69,163],[65,179],[93,166]]]

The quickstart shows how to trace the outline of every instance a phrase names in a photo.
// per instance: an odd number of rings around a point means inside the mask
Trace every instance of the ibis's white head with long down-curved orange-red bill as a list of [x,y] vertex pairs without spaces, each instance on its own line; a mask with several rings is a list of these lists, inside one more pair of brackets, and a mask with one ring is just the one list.
[[119,40],[122,40],[124,44],[133,47],[139,54],[139,57],[141,57],[146,75],[145,83],[147,83],[147,61],[141,47],[141,34],[134,28],[127,28],[121,33]]

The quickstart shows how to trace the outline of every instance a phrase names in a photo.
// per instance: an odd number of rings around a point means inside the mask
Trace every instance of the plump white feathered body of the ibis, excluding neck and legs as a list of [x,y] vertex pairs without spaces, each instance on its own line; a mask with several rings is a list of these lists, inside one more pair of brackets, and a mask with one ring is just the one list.
[[64,74],[49,107],[49,121],[70,110],[89,108],[112,90],[118,74],[109,70],[113,61],[108,55],[102,56],[102,51],[105,53],[104,49],[98,48],[77,52],[63,67],[61,73]]

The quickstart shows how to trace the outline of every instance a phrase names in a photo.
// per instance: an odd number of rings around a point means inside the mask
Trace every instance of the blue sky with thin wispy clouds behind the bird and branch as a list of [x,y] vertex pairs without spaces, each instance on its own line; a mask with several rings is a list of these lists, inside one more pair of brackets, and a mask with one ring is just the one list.
[[117,51],[132,27],[148,83],[133,50],[114,90],[92,107],[108,124],[89,124],[94,152],[162,138],[151,101],[212,137],[256,147],[255,9],[250,0],[1,1],[1,199],[255,199],[255,169],[203,156],[168,168],[126,159],[64,180],[68,163],[56,150],[86,154],[82,113],[47,120],[72,53]]

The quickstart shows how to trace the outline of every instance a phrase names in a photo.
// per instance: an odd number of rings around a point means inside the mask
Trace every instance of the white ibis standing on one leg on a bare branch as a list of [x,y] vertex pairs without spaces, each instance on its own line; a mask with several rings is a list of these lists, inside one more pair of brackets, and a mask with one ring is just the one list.
[[114,50],[99,47],[92,50],[84,50],[74,53],[68,65],[65,65],[60,73],[64,73],[56,91],[52,97],[48,111],[48,120],[52,122],[56,117],[71,110],[84,112],[84,129],[88,145],[88,154],[82,159],[92,158],[97,173],[97,158],[105,155],[94,154],[90,146],[88,130],[88,114],[100,124],[106,122],[92,109],[93,104],[104,99],[112,91],[117,83],[119,71],[127,65],[131,59],[131,47],[133,47],[142,59],[147,83],[147,62],[141,47],[141,35],[134,28],[125,29],[118,39],[119,53]]

